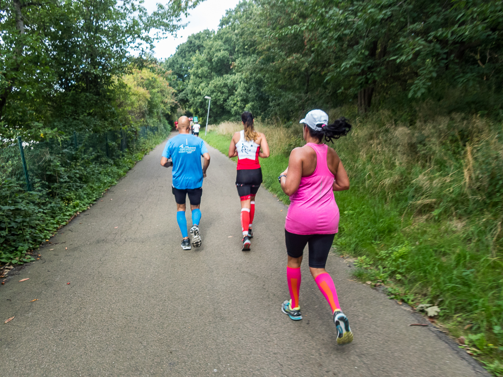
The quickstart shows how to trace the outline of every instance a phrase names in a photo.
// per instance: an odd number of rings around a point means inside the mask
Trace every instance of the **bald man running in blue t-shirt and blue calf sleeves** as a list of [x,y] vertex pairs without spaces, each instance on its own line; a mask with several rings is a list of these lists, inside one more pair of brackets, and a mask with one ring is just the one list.
[[[187,233],[187,219],[185,217],[185,202],[189,196],[192,210],[192,246],[201,246],[199,221],[201,220],[201,195],[203,194],[203,177],[210,164],[210,155],[204,141],[190,134],[190,121],[187,117],[178,119],[179,134],[167,141],[160,164],[164,167],[173,166],[173,188],[177,202],[177,221],[182,231],[182,249],[190,250],[190,240]],[[201,156],[204,157],[201,168]],[[171,160],[170,160],[171,159]]]

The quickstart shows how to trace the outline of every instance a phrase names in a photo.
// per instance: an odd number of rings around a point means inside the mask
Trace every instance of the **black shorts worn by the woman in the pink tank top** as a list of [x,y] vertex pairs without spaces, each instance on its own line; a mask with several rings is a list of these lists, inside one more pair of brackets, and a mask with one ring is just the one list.
[[286,252],[292,258],[299,258],[304,247],[309,244],[309,267],[325,268],[326,258],[336,234],[295,234],[285,229]]

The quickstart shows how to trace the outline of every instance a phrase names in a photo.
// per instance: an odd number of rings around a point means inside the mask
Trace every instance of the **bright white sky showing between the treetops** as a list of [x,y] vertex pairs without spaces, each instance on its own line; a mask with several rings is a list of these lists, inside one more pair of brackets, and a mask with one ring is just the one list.
[[[145,0],[143,6],[152,12],[157,9],[157,3],[165,4],[165,0]],[[155,44],[154,56],[157,59],[165,59],[177,51],[177,46],[187,41],[189,35],[199,33],[205,29],[217,30],[220,19],[228,9],[234,9],[239,0],[206,0],[192,10],[187,22],[189,25],[178,32],[177,38],[168,36],[166,39]],[[184,22],[185,23],[185,22]]]

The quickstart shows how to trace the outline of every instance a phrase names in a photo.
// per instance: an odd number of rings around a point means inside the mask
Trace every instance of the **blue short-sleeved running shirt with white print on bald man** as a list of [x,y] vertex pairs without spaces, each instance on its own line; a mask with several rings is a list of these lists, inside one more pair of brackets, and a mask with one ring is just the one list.
[[199,189],[203,185],[201,156],[208,153],[204,141],[190,134],[178,134],[167,141],[162,157],[173,161],[175,189]]

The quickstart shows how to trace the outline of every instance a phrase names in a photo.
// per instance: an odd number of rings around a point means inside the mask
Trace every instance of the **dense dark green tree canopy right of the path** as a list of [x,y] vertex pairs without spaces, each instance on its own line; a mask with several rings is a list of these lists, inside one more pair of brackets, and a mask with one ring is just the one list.
[[502,20],[497,0],[243,0],[165,66],[184,109],[202,115],[212,97],[214,121],[245,109],[288,120],[350,102],[365,113],[460,87],[478,97],[460,108],[497,113]]

